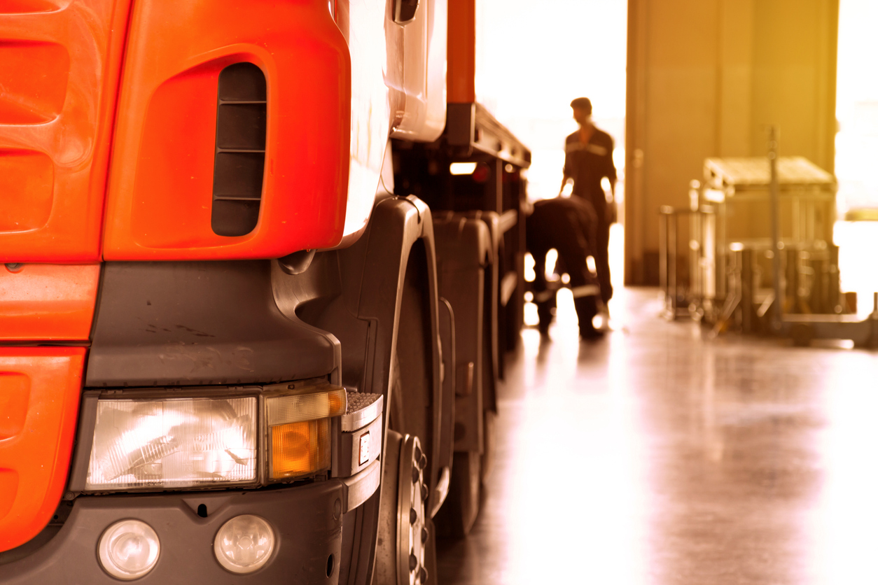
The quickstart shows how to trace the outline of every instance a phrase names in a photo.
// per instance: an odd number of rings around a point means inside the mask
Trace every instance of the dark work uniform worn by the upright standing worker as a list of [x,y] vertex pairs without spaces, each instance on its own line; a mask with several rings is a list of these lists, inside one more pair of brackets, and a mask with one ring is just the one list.
[[579,131],[567,137],[565,143],[564,175],[573,179],[573,196],[581,197],[594,206],[597,213],[595,232],[594,266],[601,282],[604,303],[613,296],[609,282],[609,221],[607,197],[601,188],[601,179],[607,177],[615,183],[613,164],[613,139],[607,132],[594,128],[587,144],[579,140]]

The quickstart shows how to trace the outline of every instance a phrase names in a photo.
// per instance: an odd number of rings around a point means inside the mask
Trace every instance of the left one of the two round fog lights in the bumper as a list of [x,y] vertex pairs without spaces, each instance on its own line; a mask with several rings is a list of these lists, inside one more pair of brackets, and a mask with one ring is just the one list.
[[97,542],[104,571],[130,581],[149,573],[159,560],[159,537],[149,524],[122,520],[112,524]]

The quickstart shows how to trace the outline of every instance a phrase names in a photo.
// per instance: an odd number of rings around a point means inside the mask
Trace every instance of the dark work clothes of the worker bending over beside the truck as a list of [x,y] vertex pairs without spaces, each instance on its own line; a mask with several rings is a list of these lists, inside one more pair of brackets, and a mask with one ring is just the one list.
[[601,287],[588,270],[586,259],[594,255],[596,225],[594,207],[579,198],[556,197],[534,203],[534,212],[525,226],[528,252],[536,264],[534,301],[540,316],[541,331],[546,331],[551,322],[554,295],[546,290],[545,263],[546,253],[555,248],[558,250],[558,263],[563,263],[570,275],[579,332],[583,337],[594,337],[592,318],[597,314],[596,298],[601,294]]

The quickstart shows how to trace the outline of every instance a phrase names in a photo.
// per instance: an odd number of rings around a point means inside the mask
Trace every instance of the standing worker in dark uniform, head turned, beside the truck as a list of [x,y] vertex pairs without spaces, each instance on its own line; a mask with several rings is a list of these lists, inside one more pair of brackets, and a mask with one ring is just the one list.
[[592,123],[592,103],[587,97],[577,97],[570,103],[573,119],[579,130],[565,142],[563,191],[567,182],[573,182],[573,196],[591,203],[597,214],[594,232],[594,265],[601,283],[601,299],[606,304],[613,296],[609,279],[609,226],[615,222],[615,201],[608,202],[601,187],[607,177],[610,194],[615,197],[615,165],[613,139]]

